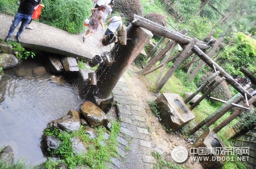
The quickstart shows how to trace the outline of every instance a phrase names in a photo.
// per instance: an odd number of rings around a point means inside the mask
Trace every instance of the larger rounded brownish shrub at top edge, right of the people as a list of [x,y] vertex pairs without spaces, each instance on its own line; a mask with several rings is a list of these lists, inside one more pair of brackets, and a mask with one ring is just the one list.
[[115,12],[124,13],[128,21],[131,22],[134,14],[143,15],[143,6],[140,0],[117,0],[113,8],[113,13]]

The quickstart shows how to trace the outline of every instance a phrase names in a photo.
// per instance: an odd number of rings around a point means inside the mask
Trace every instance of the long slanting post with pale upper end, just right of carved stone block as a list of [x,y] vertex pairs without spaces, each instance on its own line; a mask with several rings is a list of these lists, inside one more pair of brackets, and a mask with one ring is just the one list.
[[234,96],[233,98],[231,98],[227,103],[225,103],[224,105],[222,105],[218,110],[216,110],[214,113],[212,113],[211,115],[209,115],[207,118],[205,118],[203,121],[201,121],[201,123],[199,123],[196,127],[194,127],[192,130],[189,130],[189,135],[194,134],[196,131],[198,131],[201,127],[203,127],[205,124],[207,124],[208,121],[210,121],[212,118],[214,118],[216,115],[218,115],[219,113],[221,113],[222,110],[224,110],[225,108],[227,108],[231,103],[233,103],[233,101],[235,101],[236,99],[238,99],[241,96],[240,93],[237,93],[236,96]]

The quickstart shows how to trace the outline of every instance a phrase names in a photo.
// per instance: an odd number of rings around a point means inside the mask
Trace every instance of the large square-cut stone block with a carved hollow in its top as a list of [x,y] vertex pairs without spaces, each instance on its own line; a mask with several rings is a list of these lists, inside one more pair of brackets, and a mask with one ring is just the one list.
[[156,104],[162,123],[173,132],[195,118],[178,94],[163,93],[157,97]]

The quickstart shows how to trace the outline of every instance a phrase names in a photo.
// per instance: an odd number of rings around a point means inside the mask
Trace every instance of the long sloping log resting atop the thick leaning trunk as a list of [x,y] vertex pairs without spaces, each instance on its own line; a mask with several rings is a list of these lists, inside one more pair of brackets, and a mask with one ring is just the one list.
[[[162,25],[154,23],[150,20],[147,20],[147,19],[140,17],[138,15],[135,15],[135,14],[134,14],[134,20],[131,24],[146,28],[154,34],[158,34],[162,37],[167,37],[169,39],[175,40],[184,45],[187,45],[187,44],[189,44],[190,41],[192,41],[191,37],[187,37],[183,34],[172,31],[171,29],[168,29]],[[198,48],[203,49],[203,50],[210,48],[210,46],[205,45],[205,42],[198,42],[198,43],[196,43],[196,45],[198,46]]]

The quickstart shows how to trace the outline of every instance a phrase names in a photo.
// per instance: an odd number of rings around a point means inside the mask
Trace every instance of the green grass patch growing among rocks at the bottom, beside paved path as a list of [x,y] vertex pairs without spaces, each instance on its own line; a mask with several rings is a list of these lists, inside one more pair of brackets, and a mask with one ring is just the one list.
[[[117,121],[112,122],[111,132],[109,133],[109,138],[105,138],[104,135],[107,132],[105,127],[96,128],[97,138],[89,138],[88,135],[85,134],[84,128],[82,127],[75,132],[64,131],[61,132],[58,129],[47,130],[44,132],[46,135],[53,135],[61,139],[62,144],[58,149],[54,151],[50,151],[49,155],[57,156],[63,159],[63,163],[65,163],[69,169],[75,169],[76,166],[88,166],[91,169],[106,169],[108,168],[107,162],[111,161],[111,157],[116,157],[117,155],[117,141],[116,137],[119,133],[120,124]],[[71,141],[70,139],[76,136],[83,141],[86,146],[88,152],[86,154],[74,155]],[[102,144],[102,141],[105,142],[106,145]],[[52,167],[56,166],[58,163],[56,161],[47,161],[44,167],[45,169],[52,169]]]

